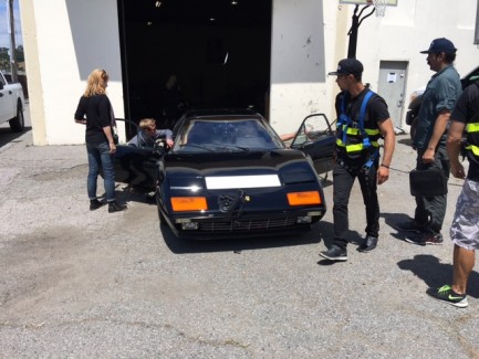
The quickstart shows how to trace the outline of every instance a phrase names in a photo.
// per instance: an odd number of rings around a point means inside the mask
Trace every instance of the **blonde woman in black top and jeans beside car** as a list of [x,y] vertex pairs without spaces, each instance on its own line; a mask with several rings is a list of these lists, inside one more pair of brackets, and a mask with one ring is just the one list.
[[114,122],[112,104],[106,96],[108,74],[104,70],[94,70],[87,80],[86,89],[80,98],[75,112],[75,122],[86,125],[85,142],[88,155],[88,177],[86,188],[90,198],[90,210],[103,205],[96,197],[96,181],[100,167],[103,168],[104,186],[108,212],[118,212],[126,205],[115,201],[115,171],[113,156],[116,152],[112,125]]

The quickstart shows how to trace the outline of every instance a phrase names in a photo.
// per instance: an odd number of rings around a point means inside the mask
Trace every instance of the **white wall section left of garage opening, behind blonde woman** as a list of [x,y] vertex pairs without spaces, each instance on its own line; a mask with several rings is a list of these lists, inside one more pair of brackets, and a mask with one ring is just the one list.
[[107,94],[123,117],[116,1],[21,0],[20,9],[35,145],[84,142],[85,128],[73,117],[94,68],[110,74]]

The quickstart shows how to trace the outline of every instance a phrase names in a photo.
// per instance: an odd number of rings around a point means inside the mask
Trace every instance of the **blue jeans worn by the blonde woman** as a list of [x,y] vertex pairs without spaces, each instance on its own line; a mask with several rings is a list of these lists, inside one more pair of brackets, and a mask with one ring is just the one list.
[[113,155],[110,154],[108,144],[86,144],[86,152],[88,154],[88,178],[86,181],[88,198],[91,200],[96,199],[96,180],[100,166],[102,166],[106,201],[113,202],[115,200],[115,170],[113,169]]

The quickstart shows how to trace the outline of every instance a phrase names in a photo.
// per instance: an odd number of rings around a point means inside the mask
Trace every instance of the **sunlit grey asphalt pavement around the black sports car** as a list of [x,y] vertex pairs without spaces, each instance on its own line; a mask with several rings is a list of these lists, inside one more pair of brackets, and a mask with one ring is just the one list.
[[[479,358],[478,273],[468,308],[426,294],[451,278],[462,181],[449,181],[444,245],[406,243],[394,223],[414,212],[414,163],[398,136],[378,247],[352,243],[332,264],[317,255],[332,236],[331,173],[310,233],[178,241],[124,186],[127,211],[88,211],[84,146],[35,147],[30,128],[1,126],[0,358]],[[350,214],[361,244],[357,182]]]

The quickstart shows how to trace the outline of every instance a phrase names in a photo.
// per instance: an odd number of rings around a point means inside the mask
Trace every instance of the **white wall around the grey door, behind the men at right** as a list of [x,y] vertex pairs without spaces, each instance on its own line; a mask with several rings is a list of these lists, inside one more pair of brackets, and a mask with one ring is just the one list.
[[[381,61],[409,62],[404,107],[418,87],[425,86],[434,74],[426,63],[430,42],[447,38],[458,49],[456,68],[466,75],[479,65],[479,47],[473,44],[477,0],[397,0],[397,7],[388,7],[384,18],[372,15],[360,27],[356,57],[364,64],[363,81],[378,88]],[[353,6],[342,6],[348,11]],[[367,12],[366,12],[367,13]],[[403,110],[403,127],[406,110]]]

